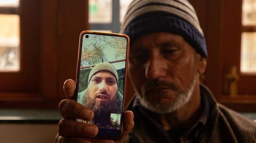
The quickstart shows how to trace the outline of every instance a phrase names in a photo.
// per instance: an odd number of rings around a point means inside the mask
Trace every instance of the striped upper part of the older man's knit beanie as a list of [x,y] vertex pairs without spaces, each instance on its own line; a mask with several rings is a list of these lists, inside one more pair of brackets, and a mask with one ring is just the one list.
[[130,3],[120,31],[123,33],[125,27],[134,18],[152,11],[163,11],[178,15],[190,22],[203,35],[196,11],[187,0],[134,0]]

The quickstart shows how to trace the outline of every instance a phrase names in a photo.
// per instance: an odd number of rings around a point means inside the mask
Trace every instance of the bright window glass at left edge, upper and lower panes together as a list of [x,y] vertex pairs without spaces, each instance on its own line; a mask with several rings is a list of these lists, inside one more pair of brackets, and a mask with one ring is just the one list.
[[19,71],[19,0],[0,0],[0,72]]

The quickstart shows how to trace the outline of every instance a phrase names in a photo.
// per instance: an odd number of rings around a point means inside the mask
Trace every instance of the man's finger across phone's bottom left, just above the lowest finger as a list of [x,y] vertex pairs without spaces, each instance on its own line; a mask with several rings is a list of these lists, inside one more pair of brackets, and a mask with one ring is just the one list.
[[58,133],[64,137],[90,138],[98,134],[98,127],[70,119],[61,119],[58,126]]

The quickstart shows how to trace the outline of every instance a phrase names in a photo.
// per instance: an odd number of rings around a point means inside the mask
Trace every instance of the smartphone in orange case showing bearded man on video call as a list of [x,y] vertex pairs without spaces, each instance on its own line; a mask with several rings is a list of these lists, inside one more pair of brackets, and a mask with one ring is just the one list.
[[82,31],[76,69],[76,101],[94,111],[96,138],[118,140],[123,133],[130,39],[125,34]]

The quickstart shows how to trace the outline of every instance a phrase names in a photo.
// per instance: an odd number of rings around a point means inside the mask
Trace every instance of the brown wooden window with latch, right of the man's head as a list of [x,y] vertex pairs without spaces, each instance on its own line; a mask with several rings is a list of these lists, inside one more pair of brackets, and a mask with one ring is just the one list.
[[253,3],[217,0],[208,5],[206,85],[219,103],[236,111],[256,111]]

